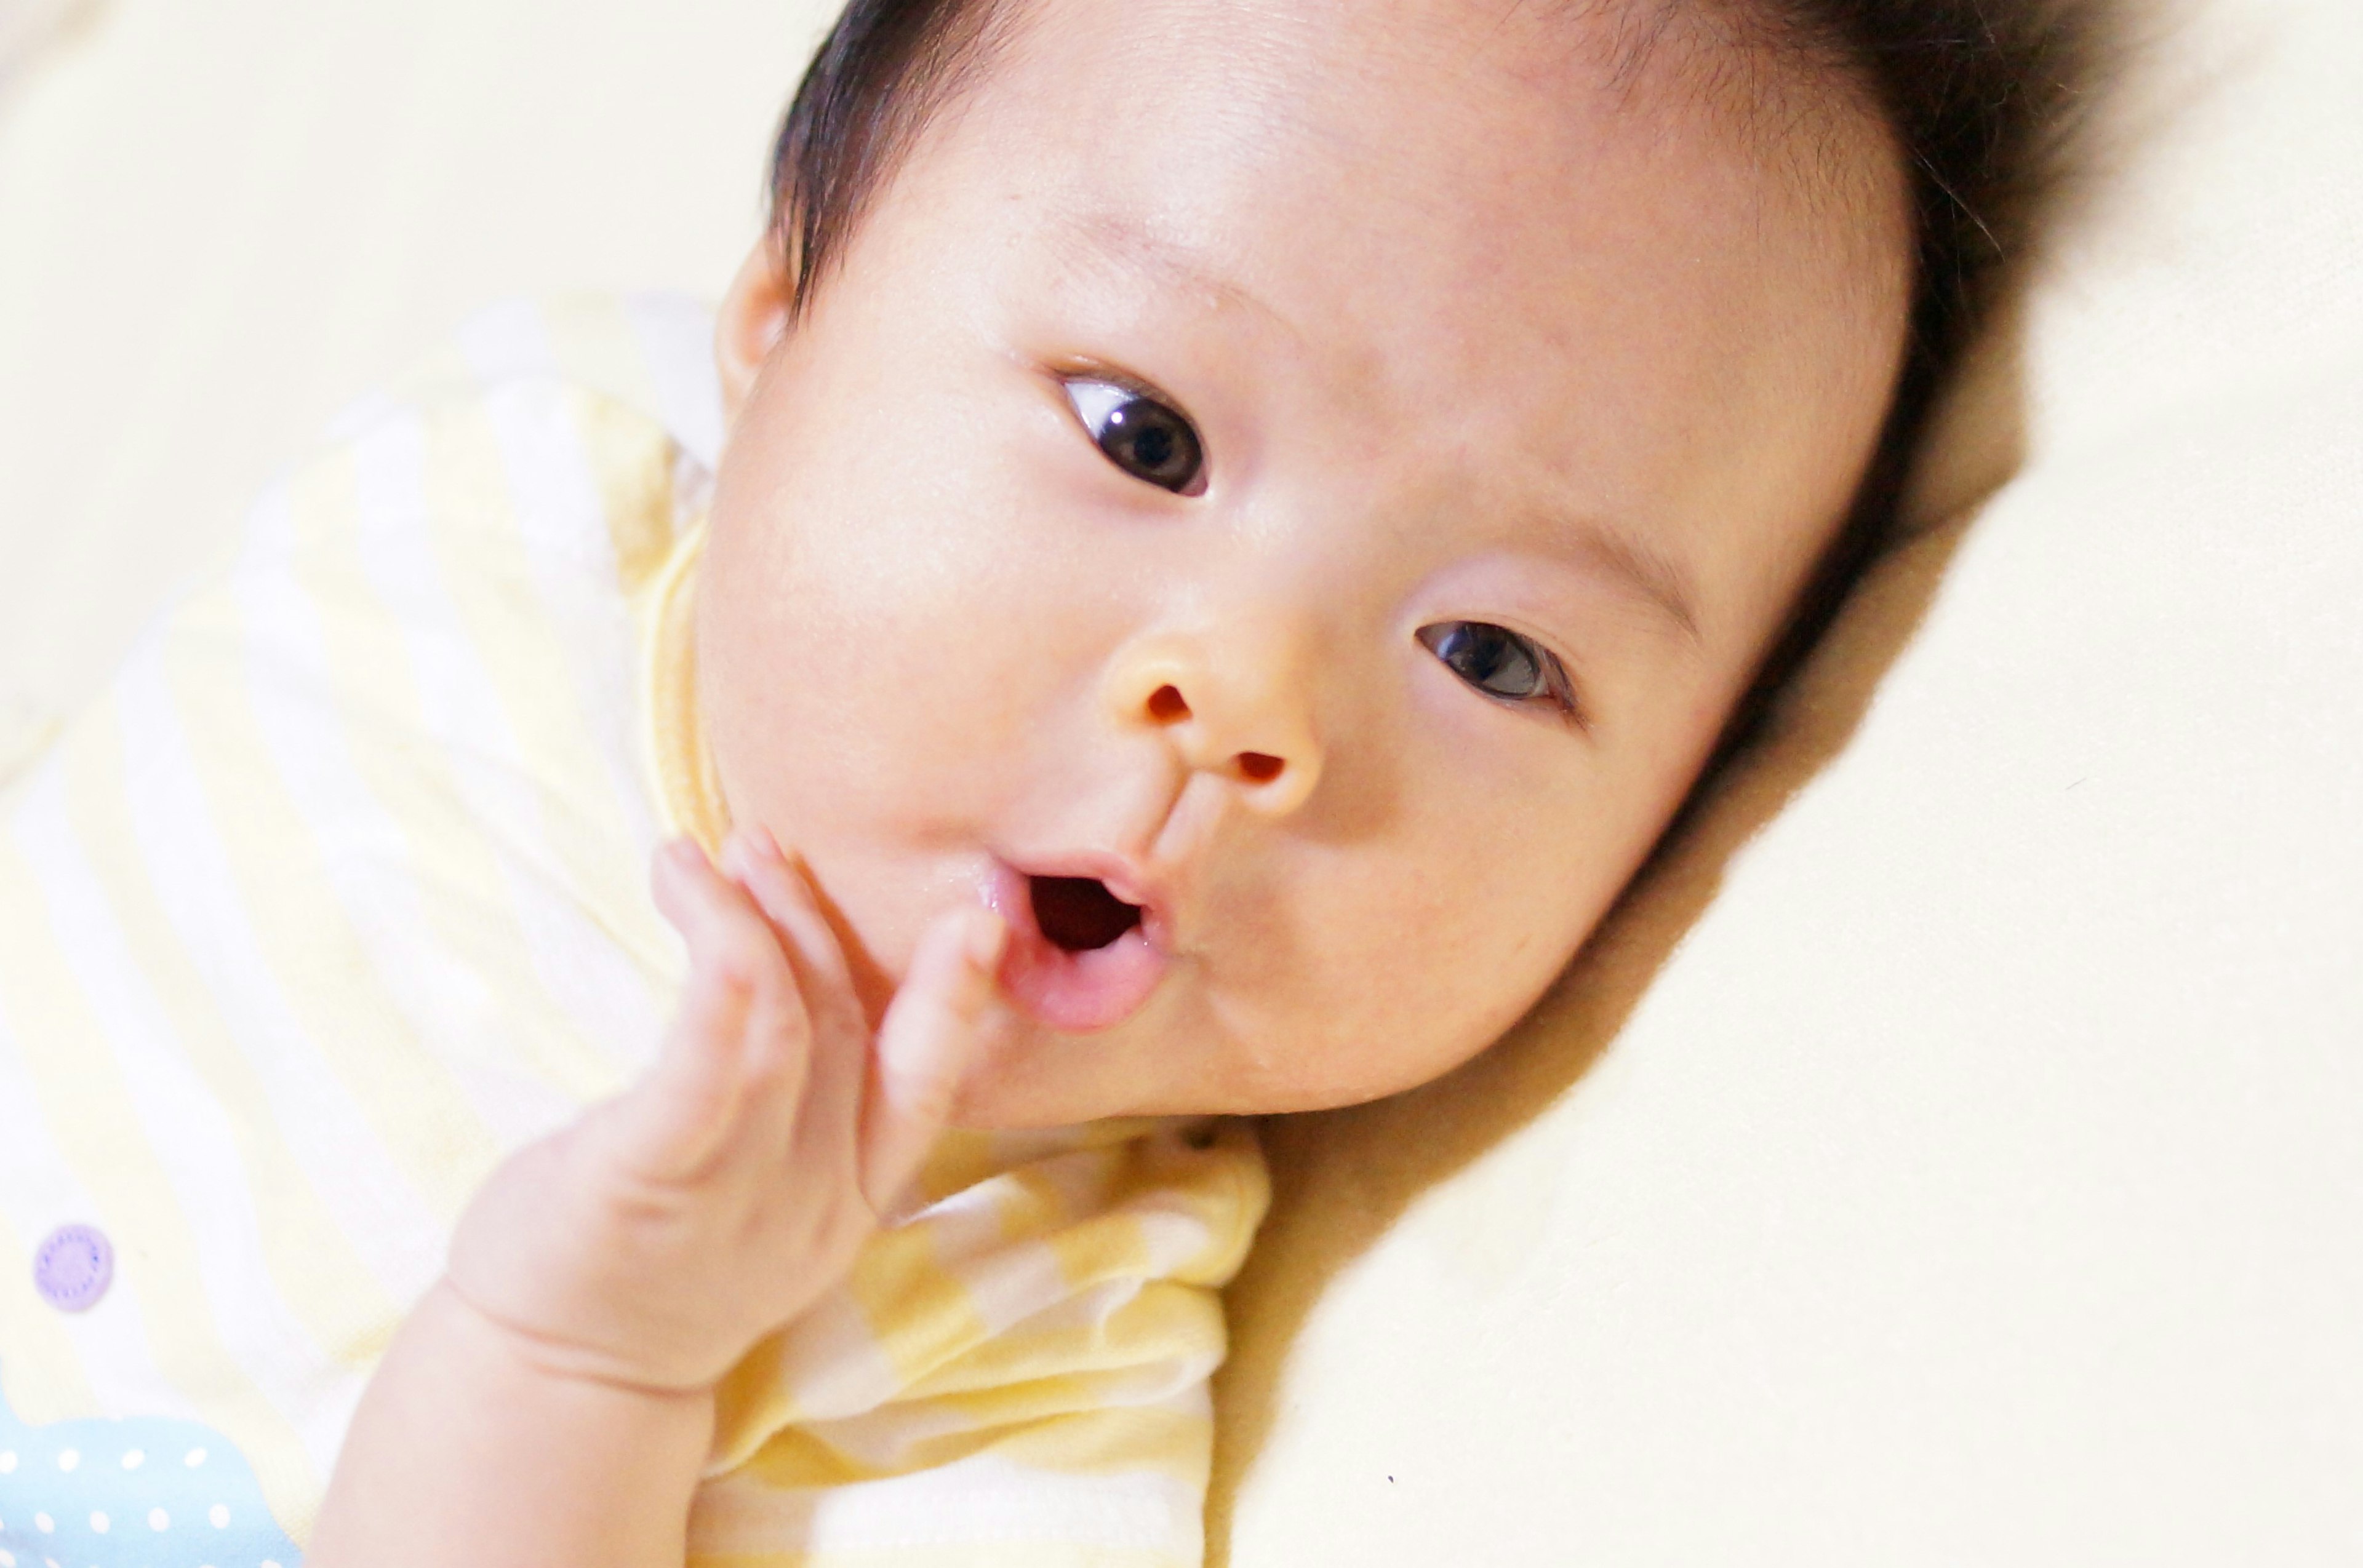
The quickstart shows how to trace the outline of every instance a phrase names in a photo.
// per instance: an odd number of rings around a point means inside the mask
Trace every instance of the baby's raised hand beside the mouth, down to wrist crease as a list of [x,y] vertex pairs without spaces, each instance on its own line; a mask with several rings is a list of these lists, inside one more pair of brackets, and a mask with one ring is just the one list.
[[517,1150],[451,1237],[461,1299],[560,1372],[721,1379],[844,1275],[978,1058],[997,914],[919,937],[872,1051],[806,876],[761,834],[721,860],[657,855],[690,982],[647,1077]]

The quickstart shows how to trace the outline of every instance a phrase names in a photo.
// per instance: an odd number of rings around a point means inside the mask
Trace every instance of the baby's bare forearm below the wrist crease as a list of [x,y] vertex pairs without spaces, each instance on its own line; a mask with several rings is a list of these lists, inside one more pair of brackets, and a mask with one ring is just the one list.
[[307,1568],[681,1568],[711,1393],[541,1365],[437,1285],[354,1412]]

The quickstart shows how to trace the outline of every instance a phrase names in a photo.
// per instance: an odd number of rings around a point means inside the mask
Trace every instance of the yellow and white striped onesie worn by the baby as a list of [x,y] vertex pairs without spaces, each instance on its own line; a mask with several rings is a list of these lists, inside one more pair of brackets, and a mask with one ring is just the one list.
[[[475,1185],[652,1051],[707,333],[484,312],[0,793],[0,1568],[293,1568]],[[964,1133],[926,1197],[725,1379],[690,1559],[1198,1563],[1248,1131]]]

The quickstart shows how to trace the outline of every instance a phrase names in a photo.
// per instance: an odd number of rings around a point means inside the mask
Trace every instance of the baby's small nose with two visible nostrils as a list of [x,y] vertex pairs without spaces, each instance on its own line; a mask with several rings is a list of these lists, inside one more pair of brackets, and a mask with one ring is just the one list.
[[1285,817],[1321,779],[1295,638],[1144,638],[1118,654],[1108,699],[1120,725],[1160,730],[1189,767],[1231,779],[1264,815]]

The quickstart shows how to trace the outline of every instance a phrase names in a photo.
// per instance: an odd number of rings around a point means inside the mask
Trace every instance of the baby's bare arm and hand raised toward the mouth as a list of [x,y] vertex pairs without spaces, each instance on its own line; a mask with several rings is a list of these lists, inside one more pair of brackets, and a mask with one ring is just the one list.
[[714,1384],[834,1285],[966,1067],[1004,928],[948,914],[870,1048],[811,883],[768,838],[657,857],[690,949],[655,1067],[520,1150],[362,1396],[307,1568],[673,1568]]

